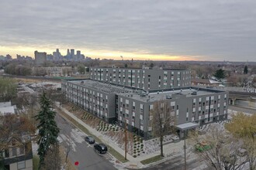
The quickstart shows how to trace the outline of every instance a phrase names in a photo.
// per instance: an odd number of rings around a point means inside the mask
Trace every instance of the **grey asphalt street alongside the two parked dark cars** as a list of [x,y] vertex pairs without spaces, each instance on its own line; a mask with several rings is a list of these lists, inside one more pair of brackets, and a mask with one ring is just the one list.
[[116,169],[109,160],[111,157],[108,154],[99,155],[93,150],[93,145],[89,145],[85,142],[85,133],[79,131],[64,120],[59,114],[56,114],[57,126],[61,128],[59,135],[59,141],[65,148],[68,146],[71,148],[68,158],[74,164],[79,162],[78,169],[81,170],[114,170]]

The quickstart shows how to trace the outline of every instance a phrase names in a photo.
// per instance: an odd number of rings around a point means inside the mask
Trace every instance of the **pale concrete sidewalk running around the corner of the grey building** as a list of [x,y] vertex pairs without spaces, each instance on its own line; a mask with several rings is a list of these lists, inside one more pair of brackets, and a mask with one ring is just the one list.
[[[57,107],[59,107],[59,104],[56,103],[56,105],[57,105]],[[87,128],[88,131],[91,134],[94,134],[95,136],[97,136],[103,143],[109,144],[109,146],[114,148],[117,152],[119,152],[119,154],[124,155],[124,151],[123,151],[122,148],[119,148],[119,146],[115,145],[114,142],[109,143],[109,140],[104,138],[104,136],[99,131],[95,130],[94,128],[91,128],[90,126],[88,126],[88,124],[85,124],[84,121],[81,121],[81,119],[76,117],[74,114],[69,112],[64,107],[61,107],[61,110],[64,111],[70,117],[72,117],[79,124],[81,124],[82,126]],[[164,150],[165,157],[160,162],[164,162],[167,159],[171,159],[171,158],[176,157],[178,155],[183,155],[184,154],[183,145],[184,145],[184,141],[179,141],[177,143],[170,143],[168,145],[164,145],[163,150]],[[151,153],[151,154],[141,155],[140,157],[137,157],[137,158],[133,158],[132,155],[127,153],[126,156],[127,156],[127,159],[129,160],[129,162],[126,162],[124,164],[125,164],[126,168],[145,168],[146,166],[141,164],[140,162],[147,159],[147,158],[152,158],[152,157],[157,156],[157,155],[160,155],[160,150],[155,151],[154,153]],[[159,162],[154,162],[153,164],[156,164],[156,163],[159,163]]]

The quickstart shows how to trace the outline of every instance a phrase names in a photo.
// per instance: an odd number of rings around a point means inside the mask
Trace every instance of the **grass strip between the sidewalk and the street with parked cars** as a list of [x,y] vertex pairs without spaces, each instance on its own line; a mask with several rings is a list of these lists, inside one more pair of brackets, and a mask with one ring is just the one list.
[[[75,121],[72,117],[70,117],[69,115],[65,114],[63,111],[61,111],[61,114],[64,115],[64,117],[66,117],[69,121],[71,121],[72,124],[74,124],[74,126],[76,126],[77,128],[81,129],[81,131],[84,131],[85,134],[88,134],[90,136],[92,136],[95,141],[97,141],[98,143],[101,143],[102,141],[97,137],[95,136],[94,134],[91,134],[87,128],[85,128],[83,125],[79,124],[77,121]],[[124,156],[119,154],[118,151],[116,151],[115,149],[111,148],[110,146],[109,147],[109,153],[114,156],[115,158],[117,158],[119,160],[119,162],[128,162],[128,160],[125,160],[124,159]]]

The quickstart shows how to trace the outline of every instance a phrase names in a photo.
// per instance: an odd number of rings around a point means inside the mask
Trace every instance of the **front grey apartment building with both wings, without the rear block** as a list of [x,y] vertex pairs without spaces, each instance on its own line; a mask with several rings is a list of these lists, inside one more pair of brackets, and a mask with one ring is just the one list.
[[[198,87],[142,90],[95,80],[63,80],[67,99],[108,123],[127,124],[144,138],[152,136],[154,103],[166,101],[175,125],[208,124],[227,119],[228,92]],[[182,131],[181,131],[182,132]]]

